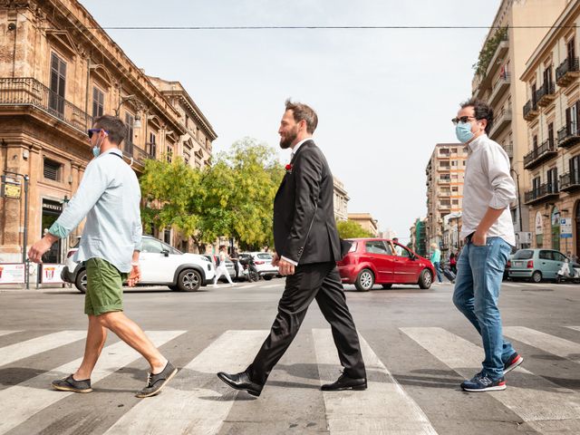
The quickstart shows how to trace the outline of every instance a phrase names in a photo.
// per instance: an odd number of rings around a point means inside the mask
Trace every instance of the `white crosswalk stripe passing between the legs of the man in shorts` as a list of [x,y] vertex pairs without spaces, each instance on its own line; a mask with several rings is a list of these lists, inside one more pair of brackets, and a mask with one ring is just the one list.
[[[147,335],[156,346],[160,346],[182,333],[185,331],[151,331]],[[123,342],[105,347],[95,370],[92,372],[92,385],[138,358],[140,358],[140,354]],[[0,410],[2,410],[0,434],[13,429],[35,413],[68,395],[76,394],[68,391],[53,391],[51,382],[73,373],[81,362],[82,358],[67,362],[51,372],[45,372],[28,381],[14,385],[14,387],[0,391]],[[143,373],[143,382],[145,382],[145,373]]]

